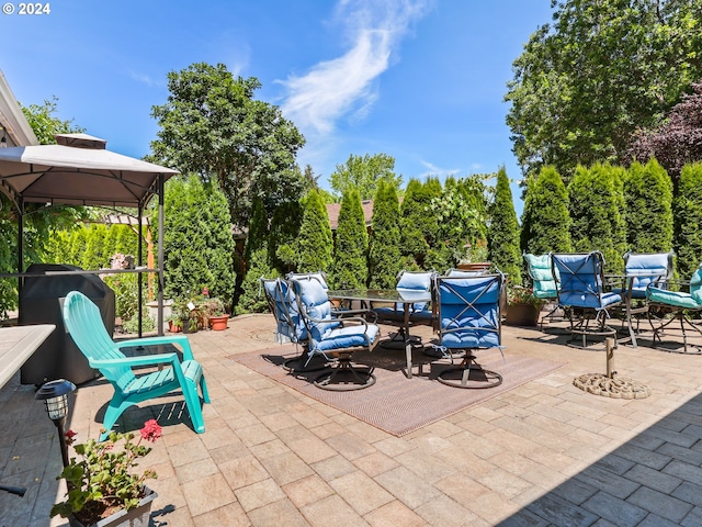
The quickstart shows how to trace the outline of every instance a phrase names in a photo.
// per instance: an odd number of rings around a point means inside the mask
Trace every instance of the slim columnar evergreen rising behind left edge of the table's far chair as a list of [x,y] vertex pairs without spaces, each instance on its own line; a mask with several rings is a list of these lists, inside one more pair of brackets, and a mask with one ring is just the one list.
[[399,202],[393,184],[380,181],[373,200],[369,239],[370,287],[393,289],[403,269],[399,249]]

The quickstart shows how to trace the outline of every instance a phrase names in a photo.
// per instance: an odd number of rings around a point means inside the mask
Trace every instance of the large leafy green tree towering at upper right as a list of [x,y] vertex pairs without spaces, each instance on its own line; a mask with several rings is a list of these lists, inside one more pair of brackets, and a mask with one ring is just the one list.
[[699,0],[554,0],[513,63],[507,124],[525,175],[615,161],[702,76]]

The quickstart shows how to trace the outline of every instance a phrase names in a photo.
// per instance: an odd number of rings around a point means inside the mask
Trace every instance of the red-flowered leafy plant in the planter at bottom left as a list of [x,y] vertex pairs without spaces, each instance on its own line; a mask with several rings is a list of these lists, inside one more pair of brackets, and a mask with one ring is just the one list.
[[[57,478],[65,478],[68,486],[66,500],[52,507],[50,516],[73,515],[84,525],[92,525],[117,509],[135,508],[144,497],[144,482],[156,479],[156,472],[145,470],[141,474],[132,472],[137,459],[151,451],[141,441],[156,442],[161,437],[161,427],[156,419],[144,423],[140,437],[111,433],[109,438],[99,442],[89,439],[84,444],[73,445],[76,433],[65,434],[66,444],[72,445],[78,457],[70,458]],[[120,447],[120,442],[124,444]]]

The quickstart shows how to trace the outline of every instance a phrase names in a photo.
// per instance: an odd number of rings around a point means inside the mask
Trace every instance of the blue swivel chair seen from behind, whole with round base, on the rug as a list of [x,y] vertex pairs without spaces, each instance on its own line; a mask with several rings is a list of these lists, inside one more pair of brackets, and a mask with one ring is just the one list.
[[[437,277],[439,348],[448,352],[464,350],[457,368],[444,369],[439,381],[457,388],[492,388],[502,377],[477,363],[476,349],[497,348],[502,354],[500,299],[505,276]],[[505,356],[502,355],[502,358]]]

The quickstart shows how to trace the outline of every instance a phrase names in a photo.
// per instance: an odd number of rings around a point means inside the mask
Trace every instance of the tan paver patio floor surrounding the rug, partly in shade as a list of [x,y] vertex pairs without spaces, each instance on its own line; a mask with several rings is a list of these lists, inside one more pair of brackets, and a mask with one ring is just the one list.
[[[653,394],[614,400],[573,385],[604,370],[602,351],[503,327],[507,354],[565,366],[395,437],[228,358],[274,347],[273,328],[244,315],[190,336],[212,396],[205,434],[178,395],[125,413],[125,427],[163,425],[141,463],[159,473],[154,526],[702,525],[702,357],[620,346],[618,371]],[[71,397],[78,440],[97,437],[111,393],[97,381]],[[48,518],[59,472],[56,429],[18,374],[0,390],[0,482],[29,490],[0,493],[0,526],[67,525]]]

